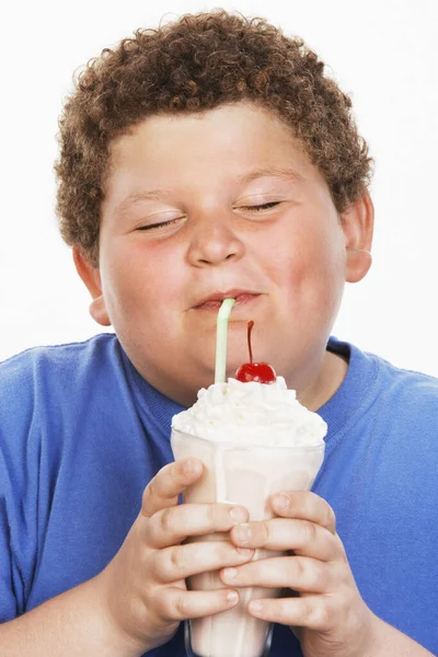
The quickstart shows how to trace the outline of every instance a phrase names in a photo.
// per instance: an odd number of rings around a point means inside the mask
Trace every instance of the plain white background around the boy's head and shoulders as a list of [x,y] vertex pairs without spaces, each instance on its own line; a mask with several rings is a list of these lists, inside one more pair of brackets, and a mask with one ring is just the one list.
[[[76,0],[2,10],[0,359],[100,327],[58,237],[53,161],[72,74],[160,19],[215,2]],[[438,0],[223,0],[297,34],[351,95],[376,159],[373,266],[347,286],[334,334],[438,376]]]

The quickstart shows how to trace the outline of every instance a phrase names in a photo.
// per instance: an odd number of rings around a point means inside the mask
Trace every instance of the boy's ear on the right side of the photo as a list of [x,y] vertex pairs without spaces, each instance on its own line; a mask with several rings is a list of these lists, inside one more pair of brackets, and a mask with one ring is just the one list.
[[358,283],[368,273],[372,257],[374,206],[368,192],[351,203],[341,215],[347,254],[347,283]]

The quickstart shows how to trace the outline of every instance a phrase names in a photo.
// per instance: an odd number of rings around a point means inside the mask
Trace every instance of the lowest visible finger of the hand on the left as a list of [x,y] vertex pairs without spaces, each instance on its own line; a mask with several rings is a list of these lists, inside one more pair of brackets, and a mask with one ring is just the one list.
[[159,589],[153,609],[163,618],[173,621],[198,619],[232,609],[239,602],[235,590],[187,591],[180,588]]

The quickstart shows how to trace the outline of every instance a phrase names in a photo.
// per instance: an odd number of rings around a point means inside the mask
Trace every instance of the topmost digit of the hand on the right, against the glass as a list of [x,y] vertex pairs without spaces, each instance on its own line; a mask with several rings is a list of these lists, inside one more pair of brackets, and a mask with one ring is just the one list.
[[279,493],[270,498],[272,507],[277,516],[309,520],[325,527],[331,533],[336,532],[335,512],[325,499],[310,491],[290,491]]

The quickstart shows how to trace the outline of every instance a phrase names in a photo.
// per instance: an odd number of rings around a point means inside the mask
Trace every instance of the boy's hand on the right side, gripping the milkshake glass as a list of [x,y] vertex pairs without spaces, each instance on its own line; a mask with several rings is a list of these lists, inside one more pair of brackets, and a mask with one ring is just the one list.
[[272,506],[276,518],[233,528],[231,541],[237,546],[288,553],[224,569],[222,581],[233,587],[292,589],[285,598],[253,600],[249,612],[293,631],[299,627],[306,657],[366,655],[378,619],[356,587],[332,508],[308,492],[277,495]]

